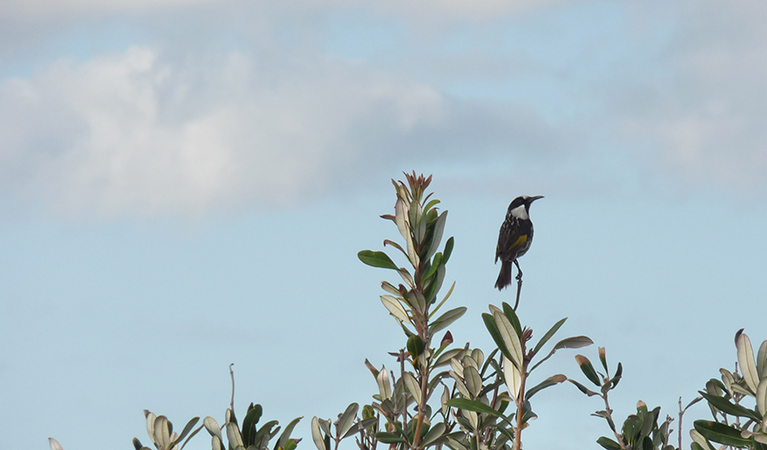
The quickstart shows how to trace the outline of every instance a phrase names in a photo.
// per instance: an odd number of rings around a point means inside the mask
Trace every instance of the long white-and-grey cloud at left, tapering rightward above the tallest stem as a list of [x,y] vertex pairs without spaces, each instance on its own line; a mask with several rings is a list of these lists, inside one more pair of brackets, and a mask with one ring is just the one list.
[[279,205],[400,159],[548,151],[551,135],[532,111],[363,65],[134,47],[0,82],[0,189],[95,215]]

